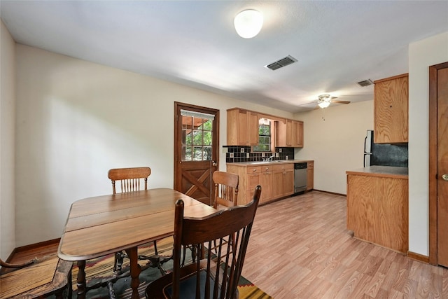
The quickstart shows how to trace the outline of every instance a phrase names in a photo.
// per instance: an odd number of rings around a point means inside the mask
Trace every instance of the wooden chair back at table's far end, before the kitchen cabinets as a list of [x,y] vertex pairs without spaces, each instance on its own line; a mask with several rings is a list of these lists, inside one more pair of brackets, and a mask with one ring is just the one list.
[[238,200],[238,174],[216,171],[212,175],[215,184],[215,198],[213,206],[218,209],[219,205],[224,207],[236,206]]

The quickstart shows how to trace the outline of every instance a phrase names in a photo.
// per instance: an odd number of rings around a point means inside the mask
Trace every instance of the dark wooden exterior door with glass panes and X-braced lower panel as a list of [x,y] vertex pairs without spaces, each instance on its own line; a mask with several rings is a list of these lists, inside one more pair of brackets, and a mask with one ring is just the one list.
[[219,110],[174,103],[174,189],[212,204],[218,170]]

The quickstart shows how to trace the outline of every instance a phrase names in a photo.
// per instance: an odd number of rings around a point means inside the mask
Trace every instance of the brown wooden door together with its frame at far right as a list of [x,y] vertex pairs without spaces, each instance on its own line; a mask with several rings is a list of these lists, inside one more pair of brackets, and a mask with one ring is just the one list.
[[429,67],[429,262],[448,267],[448,62]]

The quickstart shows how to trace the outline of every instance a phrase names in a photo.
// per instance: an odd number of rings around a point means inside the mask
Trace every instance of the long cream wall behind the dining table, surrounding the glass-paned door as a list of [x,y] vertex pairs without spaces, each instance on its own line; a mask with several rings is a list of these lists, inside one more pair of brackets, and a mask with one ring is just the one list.
[[172,187],[175,101],[220,109],[221,146],[226,109],[293,117],[28,46],[16,49],[17,246],[60,237],[72,202],[111,193],[110,168],[148,165],[150,188]]

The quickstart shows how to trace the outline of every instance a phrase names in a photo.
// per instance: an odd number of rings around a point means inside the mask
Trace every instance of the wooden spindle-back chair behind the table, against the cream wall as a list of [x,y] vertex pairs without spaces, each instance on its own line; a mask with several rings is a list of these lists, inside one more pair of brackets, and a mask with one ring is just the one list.
[[[112,192],[117,193],[117,190],[121,193],[134,192],[139,190],[148,190],[148,177],[151,175],[150,167],[131,167],[131,168],[114,168],[108,172],[108,177],[112,181]],[[116,182],[120,183],[117,184]],[[118,188],[119,187],[119,188]],[[165,270],[161,267],[163,260],[160,260],[157,242],[153,242],[154,256],[139,256],[140,259],[151,260],[153,267],[158,267],[162,274],[165,274]],[[118,274],[121,273],[121,267],[123,265],[124,258],[127,257],[124,251],[116,253],[115,262],[113,265],[113,271]]]

